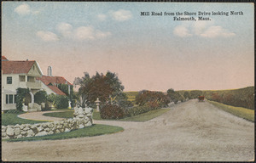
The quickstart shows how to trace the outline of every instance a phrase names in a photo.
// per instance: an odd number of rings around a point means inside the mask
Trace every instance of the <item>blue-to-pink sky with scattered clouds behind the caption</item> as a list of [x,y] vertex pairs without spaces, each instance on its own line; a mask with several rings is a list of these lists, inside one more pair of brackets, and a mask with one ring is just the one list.
[[[211,15],[177,21],[141,12]],[[253,14],[253,3],[3,2],[2,55],[36,60],[44,75],[50,65],[53,76],[72,83],[84,72],[110,70],[125,91],[248,87],[254,86]]]

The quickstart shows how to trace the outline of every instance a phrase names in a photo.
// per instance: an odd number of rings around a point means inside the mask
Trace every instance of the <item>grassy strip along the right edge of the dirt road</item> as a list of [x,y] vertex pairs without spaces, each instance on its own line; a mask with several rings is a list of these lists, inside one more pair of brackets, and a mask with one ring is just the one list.
[[209,101],[209,103],[213,104],[214,106],[217,106],[219,109],[224,110],[226,112],[229,112],[232,115],[239,116],[247,121],[253,121],[254,122],[254,110],[249,110],[242,107],[235,107],[230,106],[227,104],[221,104],[215,101]]

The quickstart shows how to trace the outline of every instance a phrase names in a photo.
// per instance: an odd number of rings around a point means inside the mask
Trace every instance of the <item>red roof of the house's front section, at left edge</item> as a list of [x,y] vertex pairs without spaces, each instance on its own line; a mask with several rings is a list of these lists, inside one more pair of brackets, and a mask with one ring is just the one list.
[[[4,56],[2,56],[3,59]],[[36,61],[2,61],[3,74],[26,74]]]

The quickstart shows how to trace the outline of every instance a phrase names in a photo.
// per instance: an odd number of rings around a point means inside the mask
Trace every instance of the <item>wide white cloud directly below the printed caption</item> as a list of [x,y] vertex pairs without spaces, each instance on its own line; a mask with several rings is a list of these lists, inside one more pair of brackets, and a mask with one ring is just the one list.
[[195,21],[185,22],[182,25],[177,25],[173,33],[178,37],[234,37],[235,33],[224,29],[220,25],[214,25],[214,21]]

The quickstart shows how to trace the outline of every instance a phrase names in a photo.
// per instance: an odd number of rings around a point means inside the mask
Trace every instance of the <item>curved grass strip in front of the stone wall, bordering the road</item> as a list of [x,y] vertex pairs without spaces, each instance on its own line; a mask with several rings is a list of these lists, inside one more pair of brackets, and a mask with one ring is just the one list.
[[114,132],[122,132],[124,128],[120,126],[108,126],[108,125],[92,125],[82,129],[73,130],[71,132],[61,132],[52,135],[46,135],[41,137],[31,138],[15,138],[15,139],[3,139],[8,142],[20,142],[20,141],[39,141],[39,140],[59,140],[67,138],[83,138],[83,137],[94,137],[103,134],[110,134]]

